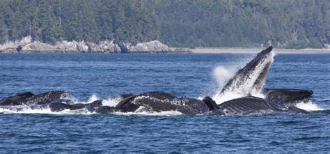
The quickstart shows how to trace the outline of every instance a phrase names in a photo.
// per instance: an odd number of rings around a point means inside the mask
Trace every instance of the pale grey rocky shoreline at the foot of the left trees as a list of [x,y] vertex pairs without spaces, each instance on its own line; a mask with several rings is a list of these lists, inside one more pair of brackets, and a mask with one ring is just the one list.
[[159,40],[137,44],[114,43],[113,40],[100,43],[63,40],[50,45],[26,36],[22,40],[6,41],[0,45],[0,53],[191,53],[191,49],[170,49]]

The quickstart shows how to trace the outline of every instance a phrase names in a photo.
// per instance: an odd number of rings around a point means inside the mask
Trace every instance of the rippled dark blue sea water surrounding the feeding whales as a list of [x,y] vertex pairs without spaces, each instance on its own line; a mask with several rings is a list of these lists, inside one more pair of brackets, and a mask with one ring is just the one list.
[[[251,54],[0,54],[0,98],[62,90],[95,94],[167,91],[214,95],[217,66],[244,66]],[[327,152],[330,54],[280,54],[268,88],[313,89],[309,115],[185,116],[0,114],[0,152]],[[221,76],[221,75],[220,75]]]

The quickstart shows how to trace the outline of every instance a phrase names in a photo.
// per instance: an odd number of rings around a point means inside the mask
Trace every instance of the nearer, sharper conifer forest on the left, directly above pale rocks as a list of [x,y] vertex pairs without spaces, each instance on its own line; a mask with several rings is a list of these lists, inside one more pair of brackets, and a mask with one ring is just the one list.
[[1,41],[23,36],[56,40],[155,40],[155,11],[143,1],[1,0]]

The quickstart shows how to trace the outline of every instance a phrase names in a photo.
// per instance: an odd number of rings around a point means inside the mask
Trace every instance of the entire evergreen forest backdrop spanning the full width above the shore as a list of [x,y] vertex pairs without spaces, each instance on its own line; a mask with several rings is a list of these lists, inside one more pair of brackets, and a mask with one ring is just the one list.
[[1,0],[0,42],[161,40],[172,47],[322,48],[328,0]]

